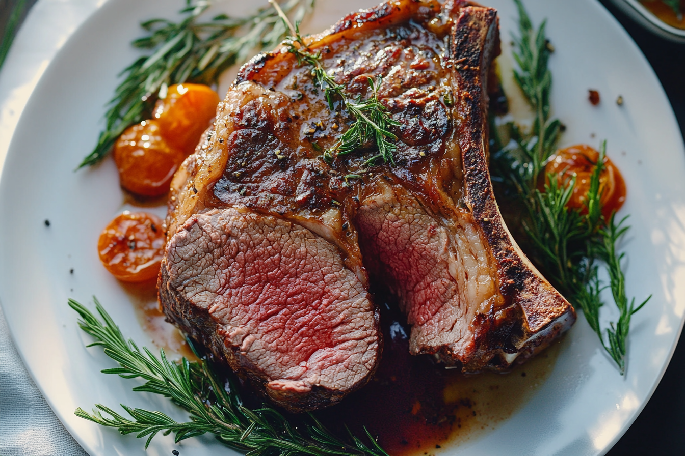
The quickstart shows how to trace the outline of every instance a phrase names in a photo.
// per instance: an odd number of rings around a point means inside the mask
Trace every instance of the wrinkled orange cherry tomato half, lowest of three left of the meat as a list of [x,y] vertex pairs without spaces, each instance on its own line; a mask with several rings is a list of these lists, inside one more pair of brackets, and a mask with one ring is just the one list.
[[145,213],[116,217],[100,234],[100,261],[112,276],[124,282],[143,282],[157,277],[166,238],[162,220]]

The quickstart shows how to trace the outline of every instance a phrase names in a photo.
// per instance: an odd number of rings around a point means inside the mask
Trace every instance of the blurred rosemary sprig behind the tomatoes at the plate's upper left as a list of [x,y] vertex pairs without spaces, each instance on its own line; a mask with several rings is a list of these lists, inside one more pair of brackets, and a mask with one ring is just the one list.
[[[314,0],[288,0],[282,10],[292,12],[299,21],[313,4]],[[286,33],[274,8],[262,8],[247,18],[219,14],[210,22],[200,22],[209,6],[207,0],[186,0],[181,10],[186,17],[179,23],[152,19],[140,25],[149,34],[133,45],[151,55],[140,57],[121,72],[124,79],[108,103],[105,130],[79,167],[97,163],[127,127],[149,117],[155,99],[163,98],[169,85],[217,83],[229,66],[245,61],[256,49],[276,46]],[[238,36],[241,29],[247,31]]]

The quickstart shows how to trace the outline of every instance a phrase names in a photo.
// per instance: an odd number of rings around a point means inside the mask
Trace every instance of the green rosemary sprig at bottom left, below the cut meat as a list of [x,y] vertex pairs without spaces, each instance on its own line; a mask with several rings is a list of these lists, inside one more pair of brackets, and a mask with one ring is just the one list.
[[[121,405],[131,418],[110,407],[97,404],[92,413],[78,408],[75,414],[99,425],[114,427],[122,434],[136,433],[145,438],[145,448],[158,433],[175,435],[175,442],[212,433],[216,438],[247,455],[342,455],[388,456],[369,431],[367,445],[350,433],[350,442],[333,435],[311,414],[303,425],[295,427],[273,408],[249,410],[231,381],[225,383],[208,360],[190,362],[183,358],[171,362],[164,350],[155,356],[149,349],[139,349],[133,340],[125,340],[112,317],[95,299],[99,318],[82,304],[69,299],[69,306],[78,312],[79,326],[99,345],[107,356],[119,363],[103,373],[116,374],[127,379],[140,378],[145,384],[134,391],[151,392],[171,399],[190,413],[190,421],[177,423],[162,412],[137,409]],[[103,416],[103,413],[106,416]],[[366,429],[365,429],[366,430]]]

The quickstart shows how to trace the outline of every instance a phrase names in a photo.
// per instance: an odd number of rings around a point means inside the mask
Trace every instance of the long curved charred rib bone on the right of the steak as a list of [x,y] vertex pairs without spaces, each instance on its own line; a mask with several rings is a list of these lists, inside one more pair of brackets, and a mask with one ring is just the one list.
[[[473,27],[476,23],[486,23],[489,27]],[[497,260],[502,295],[512,297],[512,301],[523,310],[523,334],[512,340],[516,351],[521,351],[521,361],[547,347],[560,333],[569,329],[576,314],[569,301],[521,252],[495,202],[487,167],[488,146],[484,134],[487,132],[487,120],[484,113],[488,107],[485,85],[489,59],[493,54],[497,55],[486,45],[499,46],[499,40],[488,37],[497,29],[497,11],[493,8],[462,8],[451,36],[451,70],[453,81],[459,88],[458,113],[462,122],[458,129],[465,202]]]

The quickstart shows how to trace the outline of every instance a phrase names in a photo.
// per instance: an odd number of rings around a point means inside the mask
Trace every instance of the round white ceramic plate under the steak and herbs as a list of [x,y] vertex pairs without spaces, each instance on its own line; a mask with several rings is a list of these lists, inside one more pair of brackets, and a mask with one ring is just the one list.
[[[240,14],[253,5],[218,1]],[[310,31],[374,0],[319,0]],[[499,8],[503,51],[510,53],[516,16],[511,0]],[[566,336],[556,366],[523,407],[495,430],[445,455],[599,455],[630,426],[656,388],[680,335],[685,311],[685,154],[666,96],[627,33],[593,0],[527,0],[532,18],[548,19],[554,115],[568,129],[562,145],[608,139],[608,153],[623,171],[631,213],[627,292],[647,307],[634,317],[625,377],[599,347],[581,316]],[[49,66],[19,120],[0,180],[0,298],[16,346],[45,397],[92,456],[143,455],[143,442],[74,416],[95,403],[164,410],[186,416],[167,401],[131,391],[132,382],[99,371],[112,362],[77,329],[69,297],[97,295],[123,332],[141,344],[140,329],[121,286],[101,267],[95,245],[101,228],[121,209],[112,161],[74,172],[95,144],[103,105],[116,74],[136,53],[138,22],[175,16],[182,1],[110,0],[73,32]],[[47,19],[46,19],[47,20]],[[593,107],[587,90],[602,103]],[[622,95],[625,103],[614,103]],[[49,219],[47,228],[44,220]],[[73,268],[74,273],[69,270]],[[606,310],[608,317],[616,317]],[[156,438],[147,454],[169,455],[171,437]],[[184,454],[230,453],[210,438],[183,443]]]

